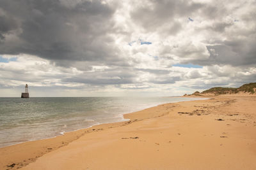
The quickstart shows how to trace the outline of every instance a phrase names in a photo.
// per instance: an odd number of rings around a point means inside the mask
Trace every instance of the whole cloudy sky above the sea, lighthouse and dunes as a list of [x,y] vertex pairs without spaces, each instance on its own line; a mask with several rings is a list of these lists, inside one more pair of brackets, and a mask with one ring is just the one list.
[[180,96],[256,80],[256,1],[0,1],[0,97]]

